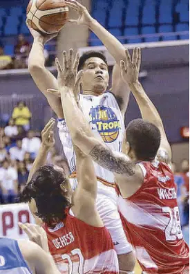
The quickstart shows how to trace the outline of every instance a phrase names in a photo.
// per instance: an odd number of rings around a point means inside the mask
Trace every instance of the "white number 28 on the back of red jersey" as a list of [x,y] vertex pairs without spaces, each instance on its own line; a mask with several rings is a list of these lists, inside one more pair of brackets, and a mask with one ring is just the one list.
[[167,241],[176,241],[182,239],[182,230],[180,226],[180,214],[178,206],[175,208],[169,208],[164,206],[162,212],[169,213],[169,223],[165,229],[165,236]]

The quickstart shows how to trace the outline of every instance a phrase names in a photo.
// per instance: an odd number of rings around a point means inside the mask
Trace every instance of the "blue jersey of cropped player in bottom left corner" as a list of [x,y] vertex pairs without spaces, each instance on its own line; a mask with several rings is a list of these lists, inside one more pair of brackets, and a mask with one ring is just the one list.
[[0,237],[0,273],[31,274],[23,259],[18,242],[14,239]]

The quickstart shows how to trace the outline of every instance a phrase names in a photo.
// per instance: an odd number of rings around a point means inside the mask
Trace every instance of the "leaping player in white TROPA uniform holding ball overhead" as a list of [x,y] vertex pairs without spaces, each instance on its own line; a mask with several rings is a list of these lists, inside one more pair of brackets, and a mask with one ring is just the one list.
[[[120,61],[125,57],[124,46],[93,19],[84,6],[76,1],[67,3],[70,8],[79,12],[79,19],[76,23],[88,26],[102,40],[104,46],[115,59],[112,93],[109,93],[106,92],[108,89],[108,66],[104,55],[99,52],[89,52],[81,57],[79,68],[84,69],[84,75],[82,76],[82,95],[80,95],[79,103],[97,138],[103,138],[110,149],[120,152],[124,133],[123,116],[129,101],[130,91],[120,75]],[[59,82],[59,79],[57,81],[44,66],[44,44],[51,37],[42,37],[34,30],[30,31],[34,37],[34,42],[28,60],[28,68],[39,90],[44,93],[50,107],[59,118],[59,136],[64,146],[64,153],[70,170],[73,173],[71,178],[76,181],[75,153],[64,121],[64,110],[61,107],[60,98],[47,91],[48,89],[57,90]],[[65,69],[62,73],[68,72],[68,66],[71,62],[73,62],[73,51],[70,51],[68,59],[64,53]],[[126,241],[120,215],[117,212],[115,177],[112,172],[97,164],[95,164],[95,172],[98,181],[97,210],[111,233],[120,261],[120,269],[122,271],[133,271],[135,258],[131,246]]]

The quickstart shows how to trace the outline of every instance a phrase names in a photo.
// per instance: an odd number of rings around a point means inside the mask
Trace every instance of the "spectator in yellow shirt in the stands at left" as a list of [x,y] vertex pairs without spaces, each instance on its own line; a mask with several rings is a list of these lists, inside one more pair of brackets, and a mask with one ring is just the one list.
[[26,131],[30,129],[30,118],[32,114],[26,103],[21,101],[18,102],[17,107],[13,109],[12,118],[15,120],[15,125],[22,126]]

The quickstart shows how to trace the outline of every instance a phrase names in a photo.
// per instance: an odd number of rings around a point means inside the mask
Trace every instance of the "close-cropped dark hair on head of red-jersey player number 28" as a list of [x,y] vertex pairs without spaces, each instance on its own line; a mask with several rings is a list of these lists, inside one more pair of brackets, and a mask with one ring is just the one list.
[[137,159],[153,161],[160,147],[161,134],[151,122],[135,119],[126,128],[126,140]]

